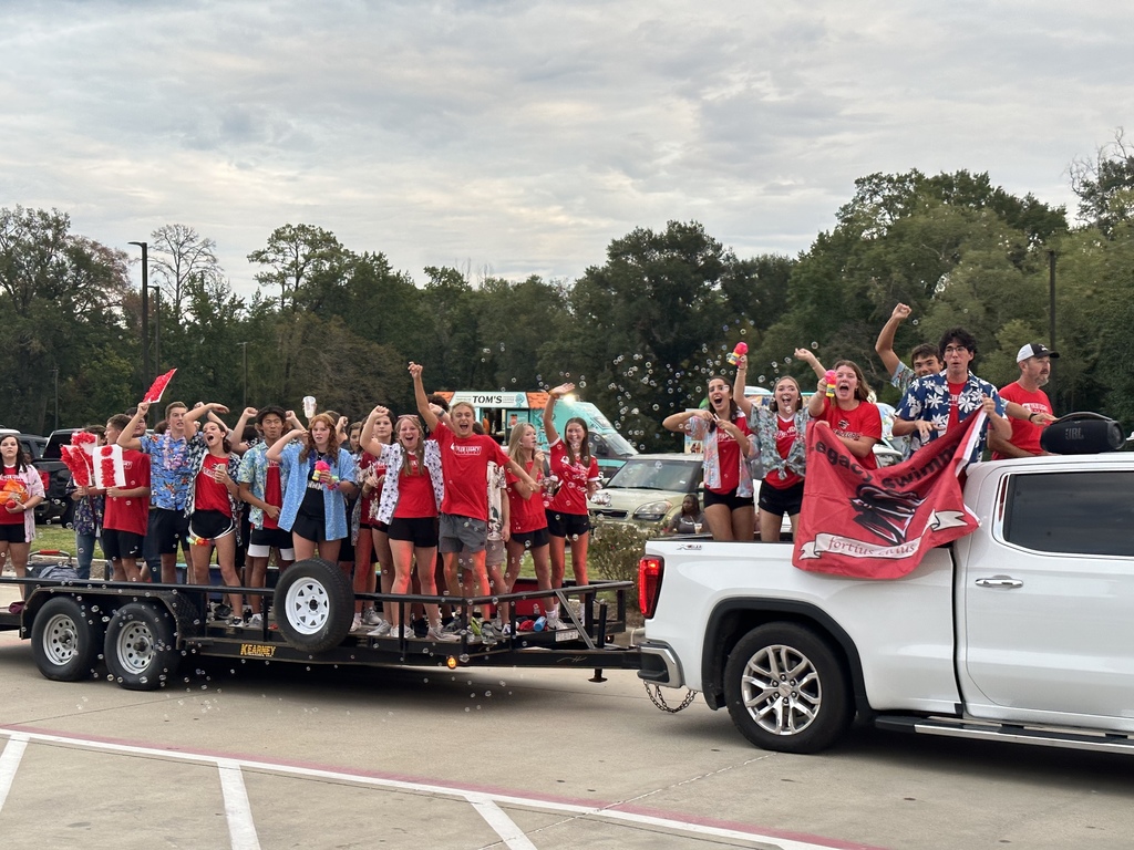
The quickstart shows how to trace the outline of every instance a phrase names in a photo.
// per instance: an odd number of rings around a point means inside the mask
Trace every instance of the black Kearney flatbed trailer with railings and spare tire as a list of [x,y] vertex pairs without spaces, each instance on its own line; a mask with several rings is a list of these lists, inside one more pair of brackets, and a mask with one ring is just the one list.
[[[521,583],[524,583],[521,579]],[[631,581],[609,581],[553,592],[521,589],[493,596],[358,594],[337,564],[298,561],[280,572],[274,588],[162,585],[107,580],[57,581],[0,578],[26,588],[23,609],[0,609],[0,631],[29,639],[36,666],[48,679],[79,681],[101,677],[130,690],[154,690],[172,681],[188,654],[264,662],[359,666],[524,666],[637,670],[636,649],[610,638],[626,630]],[[522,587],[517,583],[517,587]],[[210,619],[210,600],[221,593],[257,595],[264,601],[260,626],[230,627]],[[521,630],[533,609],[553,594],[565,628]],[[411,606],[447,604],[488,613],[501,602],[513,609],[511,634],[489,643],[463,629],[458,643],[424,638],[370,637],[352,631],[355,601],[398,605],[408,622]],[[577,603],[577,609],[572,603]],[[274,614],[274,622],[268,614]],[[367,627],[369,628],[369,627]]]

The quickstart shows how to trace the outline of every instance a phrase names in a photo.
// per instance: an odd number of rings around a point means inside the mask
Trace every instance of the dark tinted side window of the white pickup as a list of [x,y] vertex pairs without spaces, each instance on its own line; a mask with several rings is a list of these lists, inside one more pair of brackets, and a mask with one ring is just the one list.
[[1015,475],[1004,536],[1036,552],[1134,555],[1134,474]]

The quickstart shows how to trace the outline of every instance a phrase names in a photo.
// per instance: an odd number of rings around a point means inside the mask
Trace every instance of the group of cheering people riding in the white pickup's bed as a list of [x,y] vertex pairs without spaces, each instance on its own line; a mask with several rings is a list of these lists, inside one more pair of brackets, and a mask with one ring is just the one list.
[[[953,328],[937,343],[914,348],[911,368],[894,352],[895,332],[909,314],[908,306],[898,304],[875,343],[892,385],[903,393],[892,433],[906,457],[978,410],[988,415],[988,422],[972,460],[980,459],[985,440],[993,459],[1043,453],[1040,433],[1056,417],[1040,388],[1058,352],[1040,342],[1025,345],[1016,358],[1019,380],[997,390],[970,368],[976,340],[965,329]],[[828,371],[806,348],[795,356],[818,377],[806,403],[798,381],[790,376],[780,377],[767,399],[746,398],[747,357],[738,356],[731,384],[725,377],[709,381],[704,409],[674,414],[662,423],[702,447],[704,522],[713,539],[751,541],[755,529],[761,541],[776,542],[784,517],[795,530],[811,422],[826,422],[864,468],[878,468],[874,445],[882,439],[882,417],[862,368],[853,360],[838,360]],[[753,479],[750,465],[762,470],[760,481]]]

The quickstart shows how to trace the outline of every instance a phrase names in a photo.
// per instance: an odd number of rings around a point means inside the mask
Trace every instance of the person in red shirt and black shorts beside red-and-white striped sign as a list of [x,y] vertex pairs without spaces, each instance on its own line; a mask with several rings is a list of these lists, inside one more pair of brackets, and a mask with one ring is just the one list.
[[[145,423],[127,414],[107,420],[107,442],[118,442],[125,428],[134,423],[134,436],[145,433]],[[108,578],[115,581],[152,581],[150,567],[142,558],[143,539],[150,526],[150,456],[135,449],[122,450],[121,487],[107,487],[102,515],[102,550],[107,555]]]

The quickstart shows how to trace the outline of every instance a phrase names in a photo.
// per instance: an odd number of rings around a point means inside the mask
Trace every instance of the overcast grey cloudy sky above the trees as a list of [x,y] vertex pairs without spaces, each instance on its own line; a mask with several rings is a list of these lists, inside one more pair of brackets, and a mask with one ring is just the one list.
[[668,220],[795,254],[874,171],[1074,212],[1069,162],[1134,130],[1132,36],[1055,0],[0,0],[0,206],[188,224],[242,295],[285,223],[418,281],[573,279]]

